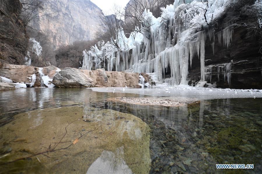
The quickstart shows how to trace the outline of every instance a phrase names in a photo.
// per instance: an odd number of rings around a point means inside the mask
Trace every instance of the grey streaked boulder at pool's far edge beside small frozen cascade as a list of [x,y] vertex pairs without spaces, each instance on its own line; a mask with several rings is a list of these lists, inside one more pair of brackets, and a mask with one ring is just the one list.
[[76,68],[66,67],[53,78],[53,84],[59,88],[93,87],[93,80]]

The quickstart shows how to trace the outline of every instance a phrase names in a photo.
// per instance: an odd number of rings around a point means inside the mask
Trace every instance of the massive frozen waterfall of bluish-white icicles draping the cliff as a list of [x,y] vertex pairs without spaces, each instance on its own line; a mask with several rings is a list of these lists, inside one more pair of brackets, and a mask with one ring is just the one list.
[[[171,84],[188,84],[188,67],[192,65],[192,59],[196,56],[200,59],[201,80],[206,80],[205,73],[205,41],[212,42],[214,49],[214,37],[217,35],[224,46],[230,46],[233,33],[233,25],[223,26],[223,30],[214,33],[209,27],[214,19],[224,14],[228,1],[212,0],[208,6],[206,2],[175,0],[173,5],[161,8],[161,17],[155,18],[152,12],[145,10],[143,19],[150,25],[150,31],[132,32],[129,38],[124,32],[117,33],[121,40],[118,42],[121,51],[113,46],[108,52],[108,70],[129,72],[155,72],[159,81],[170,68]],[[106,49],[106,48],[105,48]],[[83,69],[91,69],[92,60],[97,58],[89,51],[84,51]],[[90,63],[91,62],[91,63]],[[99,68],[99,67],[98,67]],[[230,82],[230,75],[228,82]]]

